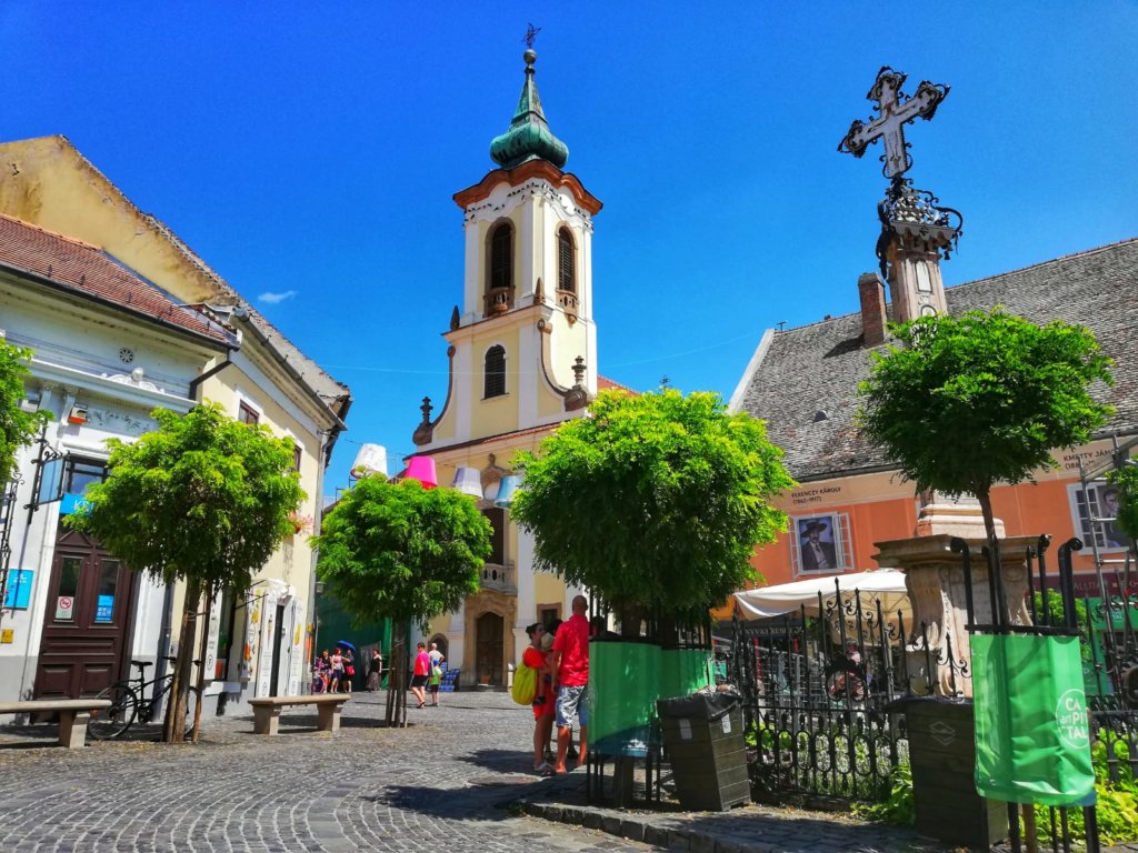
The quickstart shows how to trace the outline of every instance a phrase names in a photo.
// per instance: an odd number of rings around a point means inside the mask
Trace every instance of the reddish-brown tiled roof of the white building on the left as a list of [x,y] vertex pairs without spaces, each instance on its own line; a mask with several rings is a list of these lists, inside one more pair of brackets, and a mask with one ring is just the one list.
[[34,276],[47,287],[114,305],[160,325],[220,346],[236,336],[200,312],[180,305],[152,282],[80,240],[0,214],[0,270]]

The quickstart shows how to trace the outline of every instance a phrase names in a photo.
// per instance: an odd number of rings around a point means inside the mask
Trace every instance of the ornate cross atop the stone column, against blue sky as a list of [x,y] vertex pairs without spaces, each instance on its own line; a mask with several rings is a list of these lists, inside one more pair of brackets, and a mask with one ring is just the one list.
[[941,83],[923,80],[917,86],[917,93],[909,98],[901,91],[906,76],[883,65],[877,72],[873,88],[866,94],[867,100],[876,101],[879,116],[872,118],[868,124],[855,119],[844,139],[838,144],[838,150],[842,154],[860,157],[868,146],[879,139],[884,139],[885,156],[882,159],[885,163],[885,177],[889,179],[905,174],[913,165],[913,158],[907,150],[908,143],[905,141],[905,125],[917,116],[926,122],[930,121],[949,89]]

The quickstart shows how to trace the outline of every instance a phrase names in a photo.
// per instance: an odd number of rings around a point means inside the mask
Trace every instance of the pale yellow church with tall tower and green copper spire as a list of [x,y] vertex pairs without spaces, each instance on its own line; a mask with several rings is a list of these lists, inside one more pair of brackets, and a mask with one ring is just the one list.
[[439,483],[459,467],[479,472],[494,554],[481,590],[431,624],[464,684],[505,685],[528,643],[525,627],[562,618],[577,594],[534,571],[533,539],[494,506],[498,482],[519,450],[531,450],[559,423],[585,413],[599,388],[593,322],[593,216],[601,209],[562,171],[566,146],[553,135],[534,82],[533,50],[509,130],[490,143],[498,168],[454,196],[465,231],[462,306],[455,307],[450,387],[442,412],[430,400],[414,433],[435,458]]

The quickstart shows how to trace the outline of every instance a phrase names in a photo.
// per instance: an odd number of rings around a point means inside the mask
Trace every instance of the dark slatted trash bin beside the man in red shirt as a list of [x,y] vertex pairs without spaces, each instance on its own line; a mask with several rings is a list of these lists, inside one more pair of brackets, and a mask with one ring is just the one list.
[[655,703],[676,796],[685,809],[726,811],[751,802],[739,699],[724,691]]

